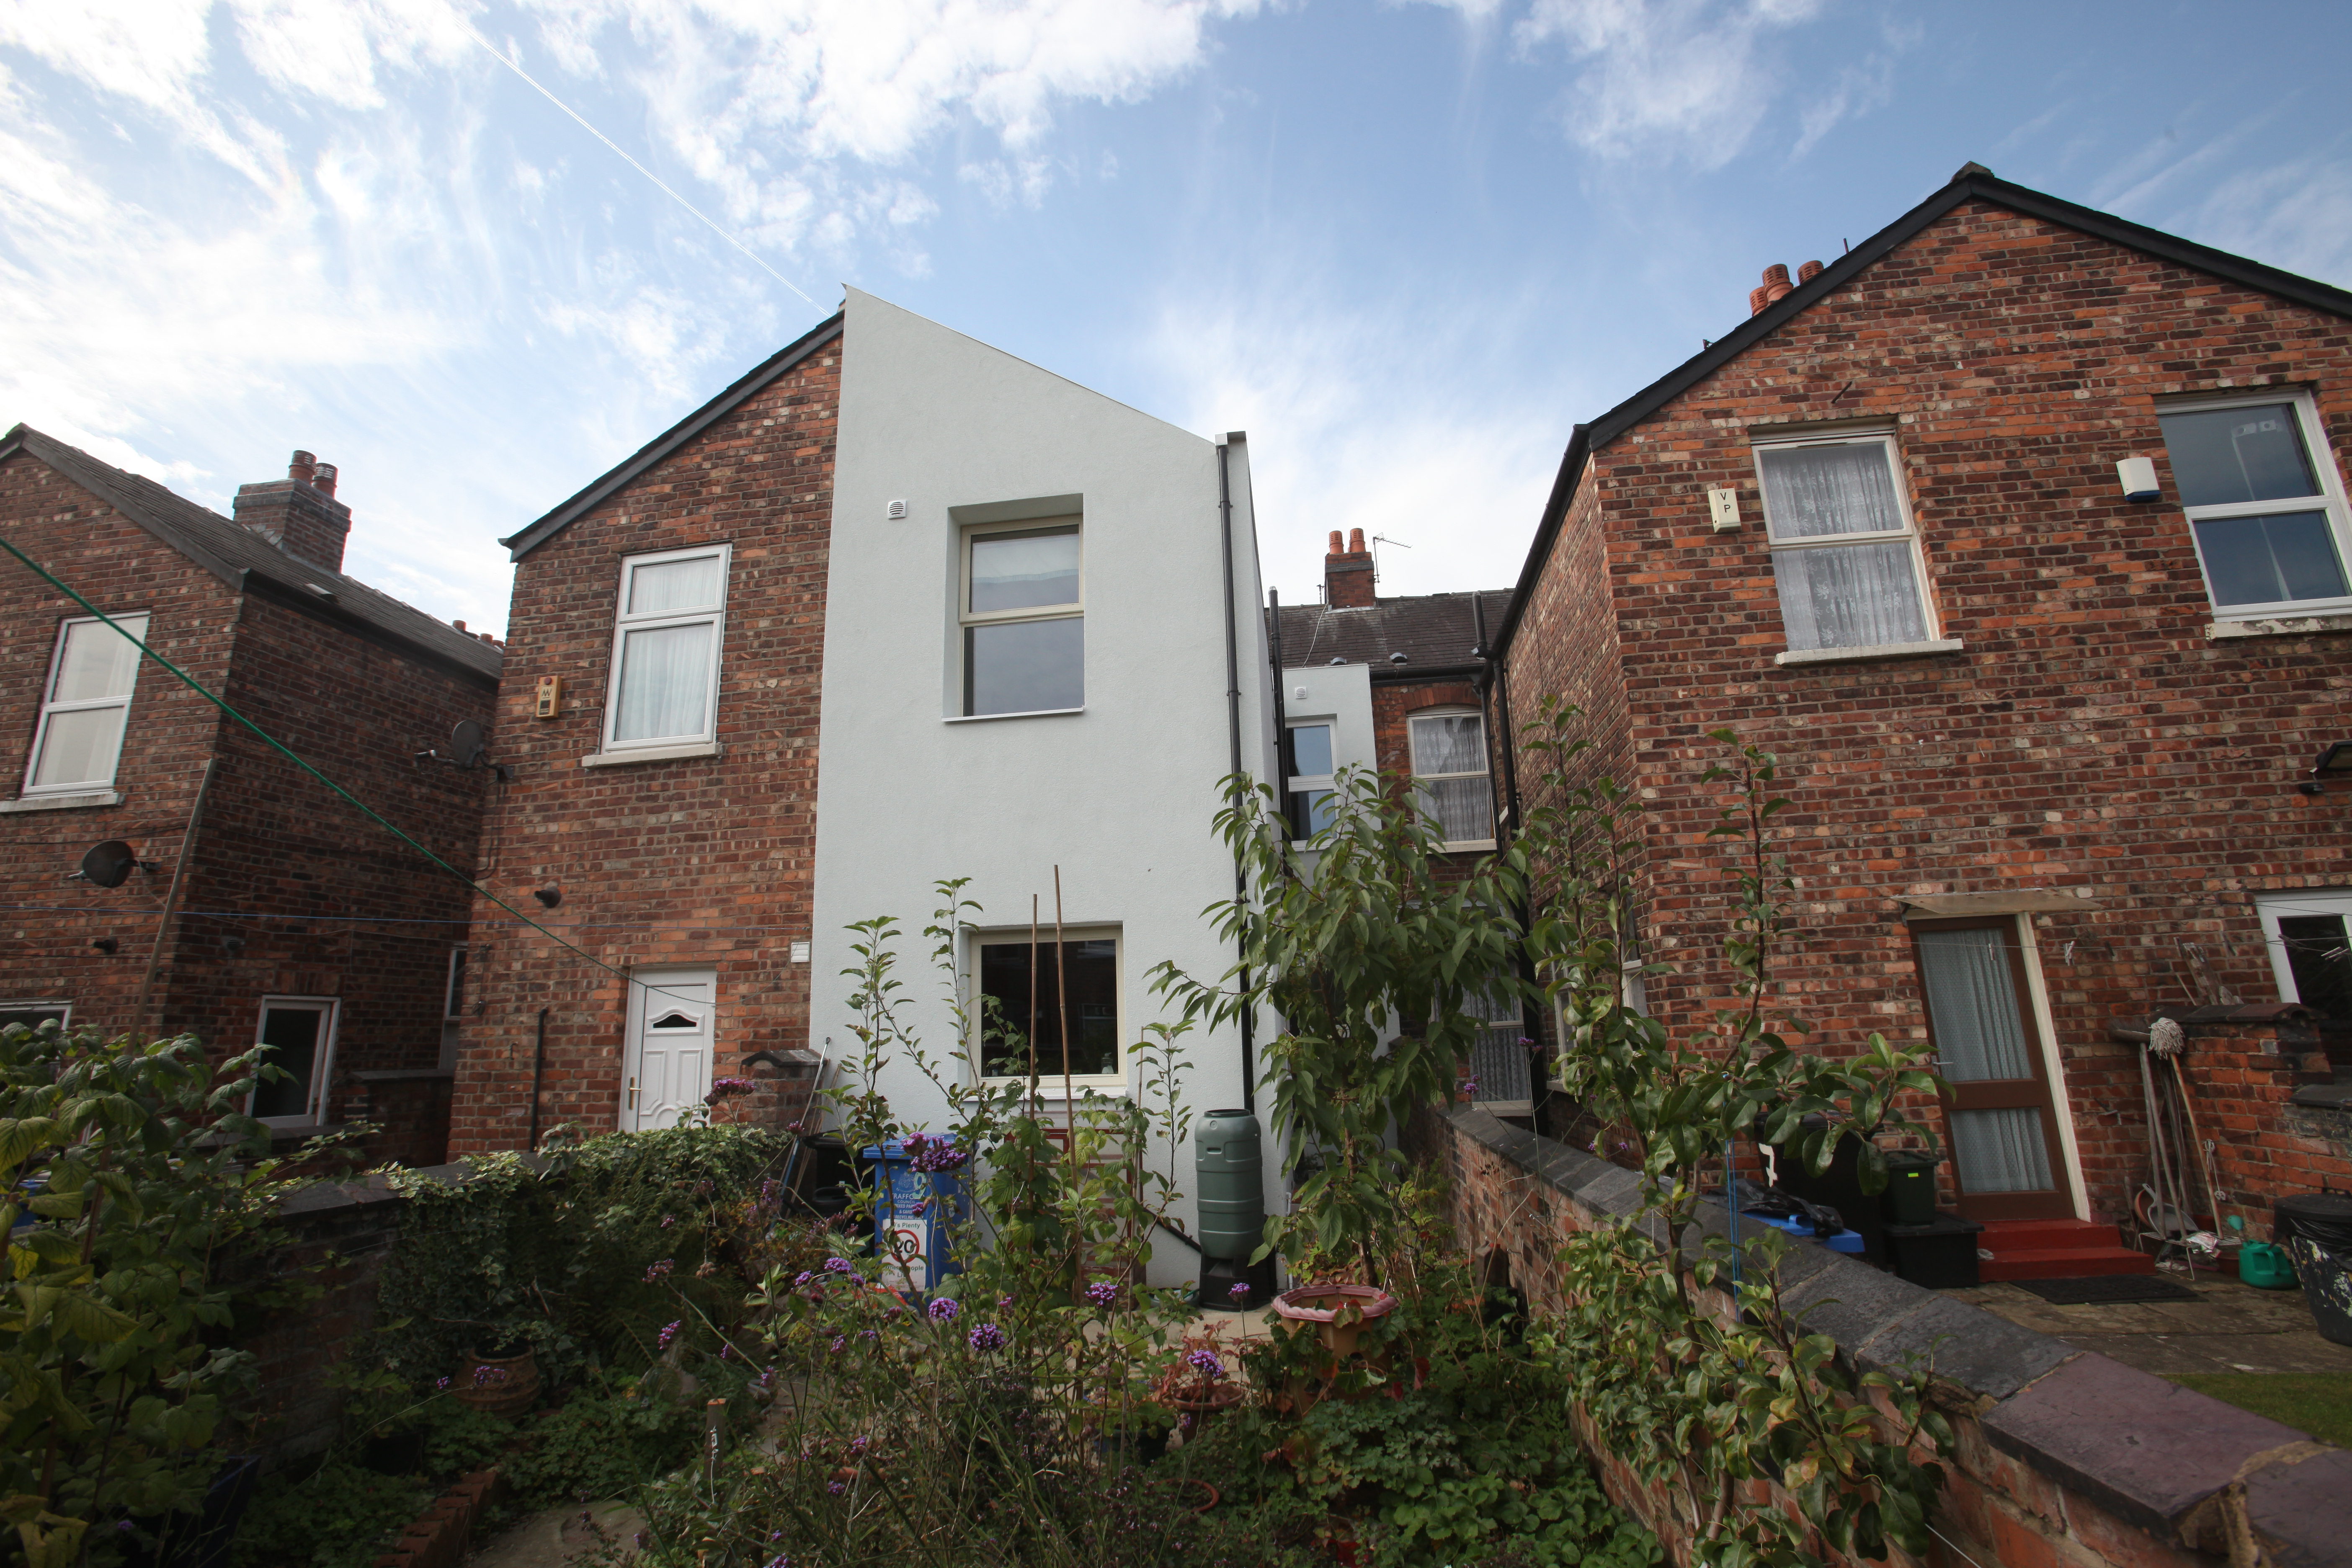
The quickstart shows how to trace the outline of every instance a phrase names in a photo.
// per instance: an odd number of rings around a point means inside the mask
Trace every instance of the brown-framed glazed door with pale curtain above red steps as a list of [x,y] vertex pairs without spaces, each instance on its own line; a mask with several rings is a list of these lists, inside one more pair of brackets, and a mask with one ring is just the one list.
[[1945,1157],[1969,1220],[2070,1220],[2049,1053],[2016,917],[1912,922]]

